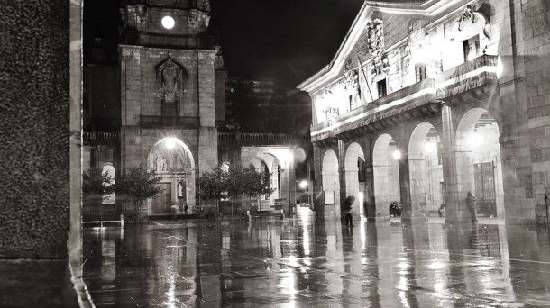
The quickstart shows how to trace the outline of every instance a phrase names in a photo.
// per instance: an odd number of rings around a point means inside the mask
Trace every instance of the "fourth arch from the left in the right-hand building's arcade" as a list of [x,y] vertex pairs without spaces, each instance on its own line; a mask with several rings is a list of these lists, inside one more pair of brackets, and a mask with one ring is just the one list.
[[429,215],[444,203],[445,184],[441,139],[434,125],[417,125],[408,142],[411,208],[416,216]]

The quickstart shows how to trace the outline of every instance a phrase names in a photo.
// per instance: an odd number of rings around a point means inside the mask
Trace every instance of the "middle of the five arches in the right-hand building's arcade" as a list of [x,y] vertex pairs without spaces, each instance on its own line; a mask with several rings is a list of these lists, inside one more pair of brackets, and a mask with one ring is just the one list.
[[376,217],[390,215],[393,202],[401,203],[399,192],[399,159],[401,153],[395,141],[387,133],[378,137],[372,151],[372,172],[374,177],[374,206]]

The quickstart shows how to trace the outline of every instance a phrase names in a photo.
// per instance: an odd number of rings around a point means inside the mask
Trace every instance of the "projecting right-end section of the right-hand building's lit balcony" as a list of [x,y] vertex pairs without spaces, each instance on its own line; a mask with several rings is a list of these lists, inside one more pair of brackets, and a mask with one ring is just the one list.
[[451,106],[475,104],[494,95],[499,81],[498,57],[482,55],[446,70],[437,83],[437,97]]

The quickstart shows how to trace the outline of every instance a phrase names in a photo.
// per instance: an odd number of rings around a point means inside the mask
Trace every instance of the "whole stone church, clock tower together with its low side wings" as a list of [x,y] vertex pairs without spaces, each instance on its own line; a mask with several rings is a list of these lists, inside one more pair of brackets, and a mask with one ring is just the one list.
[[[274,175],[275,193],[263,196],[264,209],[284,200],[282,208],[289,211],[294,199],[295,146],[288,136],[218,133],[226,120],[226,71],[218,40],[208,32],[210,13],[208,0],[126,1],[120,8],[118,64],[87,67],[93,125],[87,131],[85,124],[83,169],[102,168],[116,178],[128,168],[143,167],[162,176],[160,194],[144,204],[144,216],[181,213],[184,204],[188,213],[198,207],[220,212],[214,201],[200,200],[199,177],[230,164],[252,164]],[[118,89],[105,94],[113,82]],[[133,212],[132,204],[124,208]]]

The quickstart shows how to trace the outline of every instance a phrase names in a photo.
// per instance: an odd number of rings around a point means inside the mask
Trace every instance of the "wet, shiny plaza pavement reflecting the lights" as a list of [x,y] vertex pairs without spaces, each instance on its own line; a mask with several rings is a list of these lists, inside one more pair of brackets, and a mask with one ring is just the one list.
[[96,307],[548,307],[545,229],[316,220],[86,228]]

